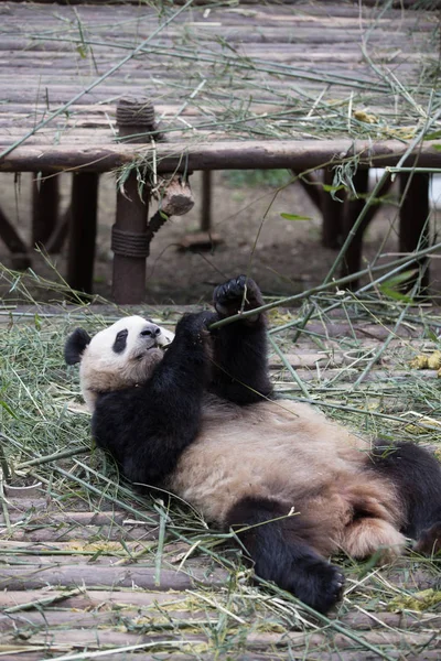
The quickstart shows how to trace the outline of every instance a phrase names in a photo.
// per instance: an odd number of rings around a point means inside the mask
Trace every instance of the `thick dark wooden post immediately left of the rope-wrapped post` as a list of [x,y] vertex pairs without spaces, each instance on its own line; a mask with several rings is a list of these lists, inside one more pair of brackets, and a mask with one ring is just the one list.
[[67,282],[92,293],[98,209],[98,174],[73,175]]

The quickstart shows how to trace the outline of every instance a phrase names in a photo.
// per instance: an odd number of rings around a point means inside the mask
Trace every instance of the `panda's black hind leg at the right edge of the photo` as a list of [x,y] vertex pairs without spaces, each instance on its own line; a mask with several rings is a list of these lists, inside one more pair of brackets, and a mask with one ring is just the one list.
[[441,464],[423,447],[385,441],[377,442],[372,459],[398,491],[405,519],[401,532],[417,540],[420,553],[441,551]]

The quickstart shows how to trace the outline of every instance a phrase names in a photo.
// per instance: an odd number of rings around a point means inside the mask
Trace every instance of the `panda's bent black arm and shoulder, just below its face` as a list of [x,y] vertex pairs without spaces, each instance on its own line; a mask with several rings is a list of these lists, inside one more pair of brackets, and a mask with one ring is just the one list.
[[132,481],[159,484],[196,436],[211,367],[206,325],[216,319],[185,315],[147,383],[98,395],[93,434]]

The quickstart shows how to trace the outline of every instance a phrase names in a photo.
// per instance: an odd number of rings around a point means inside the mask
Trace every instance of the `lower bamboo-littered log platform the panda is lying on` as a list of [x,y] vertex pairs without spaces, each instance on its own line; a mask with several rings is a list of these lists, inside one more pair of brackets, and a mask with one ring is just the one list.
[[[364,434],[438,447],[437,373],[410,370],[409,358],[437,347],[440,311],[421,306],[399,322],[394,305],[357,306],[351,296],[342,305],[318,306],[295,344],[294,327],[282,329],[295,315],[270,313],[286,357],[271,349],[277,390]],[[171,323],[182,311],[162,313]],[[2,400],[17,415],[0,409],[2,449],[17,472],[15,488],[3,474],[0,492],[0,659],[438,660],[441,559],[409,554],[378,567],[340,556],[345,596],[320,617],[273,586],[254,586],[233,540],[178,499],[117,484],[111,462],[89,449],[77,373],[62,364],[67,328],[97,327],[101,315],[115,310],[11,306],[0,315],[11,366]],[[33,365],[17,342],[33,347]],[[41,456],[65,451],[74,456]]]

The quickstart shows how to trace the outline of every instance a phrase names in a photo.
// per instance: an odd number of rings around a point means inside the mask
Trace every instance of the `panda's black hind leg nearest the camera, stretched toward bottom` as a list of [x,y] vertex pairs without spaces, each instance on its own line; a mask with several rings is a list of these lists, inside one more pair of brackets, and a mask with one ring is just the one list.
[[287,511],[278,501],[247,497],[230,509],[226,522],[249,553],[256,575],[326,613],[342,596],[343,574],[309,542],[316,534],[313,523],[287,517]]

